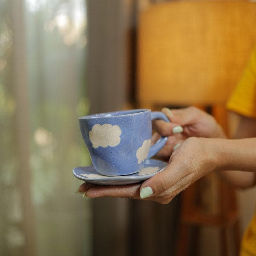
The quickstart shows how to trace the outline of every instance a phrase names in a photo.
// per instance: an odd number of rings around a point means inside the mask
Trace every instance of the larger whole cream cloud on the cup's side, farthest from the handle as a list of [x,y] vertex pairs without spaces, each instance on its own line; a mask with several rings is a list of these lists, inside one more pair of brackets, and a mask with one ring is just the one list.
[[89,139],[92,142],[93,148],[108,146],[115,147],[120,141],[120,135],[122,131],[118,125],[111,124],[95,124],[92,127],[92,130],[89,132]]

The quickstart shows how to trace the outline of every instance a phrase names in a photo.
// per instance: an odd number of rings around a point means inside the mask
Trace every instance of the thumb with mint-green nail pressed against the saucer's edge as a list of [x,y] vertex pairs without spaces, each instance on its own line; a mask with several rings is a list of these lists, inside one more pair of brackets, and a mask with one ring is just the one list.
[[162,172],[157,173],[141,184],[140,198],[144,199],[156,195],[163,196],[164,192],[167,194],[168,191],[171,191],[170,188],[182,177],[182,172],[179,170],[179,161],[173,159]]

